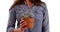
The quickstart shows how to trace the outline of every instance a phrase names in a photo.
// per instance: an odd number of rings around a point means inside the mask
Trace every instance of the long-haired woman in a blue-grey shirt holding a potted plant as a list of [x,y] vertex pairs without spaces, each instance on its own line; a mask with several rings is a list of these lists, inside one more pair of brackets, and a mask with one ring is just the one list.
[[[30,10],[35,18],[34,28],[31,30],[26,27],[21,28],[27,25],[27,22],[21,20],[22,14]],[[48,11],[46,4],[41,0],[16,0],[9,9],[9,14],[7,32],[49,32]],[[15,28],[16,20],[18,22],[17,28]]]

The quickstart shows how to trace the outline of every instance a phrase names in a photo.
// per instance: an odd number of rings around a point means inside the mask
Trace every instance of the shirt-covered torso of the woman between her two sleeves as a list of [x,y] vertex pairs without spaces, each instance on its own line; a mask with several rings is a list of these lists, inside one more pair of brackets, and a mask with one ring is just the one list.
[[[17,28],[20,27],[20,21],[25,11],[32,11],[35,21],[34,21],[34,28],[32,28],[32,32],[41,32],[42,31],[42,21],[43,21],[43,7],[33,5],[30,9],[26,4],[17,5],[16,6],[16,20],[17,20]],[[26,29],[25,32],[29,30]]]

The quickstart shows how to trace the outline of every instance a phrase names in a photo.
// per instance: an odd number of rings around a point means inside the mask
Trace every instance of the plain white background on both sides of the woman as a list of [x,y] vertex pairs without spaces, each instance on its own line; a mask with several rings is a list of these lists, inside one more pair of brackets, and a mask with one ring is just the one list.
[[[60,32],[60,1],[42,0],[46,2],[49,12],[50,32]],[[0,0],[0,32],[6,32],[9,8],[13,0]]]

